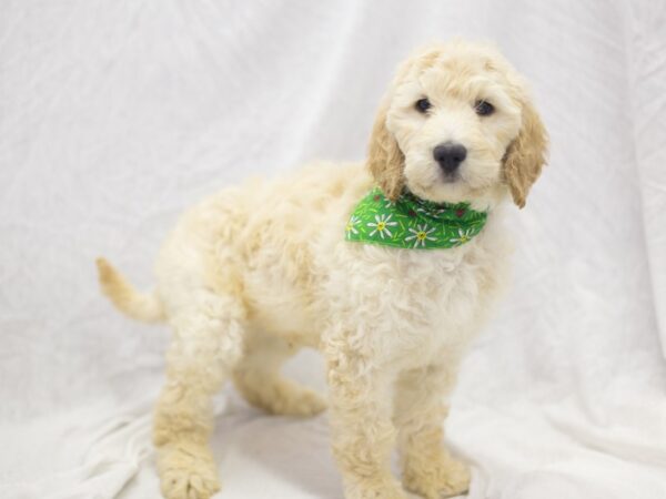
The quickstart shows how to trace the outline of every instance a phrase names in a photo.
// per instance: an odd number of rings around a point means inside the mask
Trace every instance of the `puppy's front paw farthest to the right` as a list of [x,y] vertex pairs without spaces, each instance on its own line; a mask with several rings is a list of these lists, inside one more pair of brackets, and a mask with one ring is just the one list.
[[448,457],[431,465],[427,469],[405,471],[407,490],[426,499],[444,499],[470,490],[470,468],[464,462]]

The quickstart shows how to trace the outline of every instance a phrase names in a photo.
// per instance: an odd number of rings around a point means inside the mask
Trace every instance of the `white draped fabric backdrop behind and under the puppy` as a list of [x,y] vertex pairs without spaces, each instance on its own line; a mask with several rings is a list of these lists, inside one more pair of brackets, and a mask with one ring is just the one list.
[[[148,286],[184,206],[363,157],[396,62],[456,34],[528,77],[553,142],[454,399],[471,498],[666,498],[664,26],[662,0],[0,0],[0,498],[157,496],[168,333],[93,258]],[[323,385],[315,355],[290,370]],[[325,416],[219,413],[221,497],[340,497]]]

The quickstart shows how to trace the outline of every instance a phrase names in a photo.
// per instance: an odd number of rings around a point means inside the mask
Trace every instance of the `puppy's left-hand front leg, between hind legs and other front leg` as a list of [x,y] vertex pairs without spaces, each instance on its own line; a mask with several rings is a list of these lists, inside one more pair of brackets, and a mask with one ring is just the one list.
[[346,499],[404,499],[390,469],[395,441],[394,377],[371,359],[337,349],[327,356],[333,454]]

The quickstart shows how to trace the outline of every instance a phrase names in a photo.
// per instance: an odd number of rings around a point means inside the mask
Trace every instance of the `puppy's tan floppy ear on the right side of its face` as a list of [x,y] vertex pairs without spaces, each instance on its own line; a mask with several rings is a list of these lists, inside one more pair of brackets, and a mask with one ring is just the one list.
[[518,207],[525,206],[529,187],[546,163],[548,149],[548,133],[527,99],[523,100],[522,119],[518,136],[506,150],[503,169],[504,180]]

